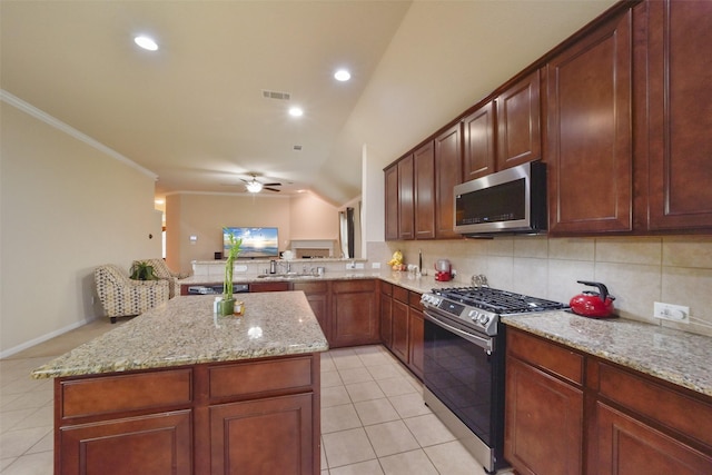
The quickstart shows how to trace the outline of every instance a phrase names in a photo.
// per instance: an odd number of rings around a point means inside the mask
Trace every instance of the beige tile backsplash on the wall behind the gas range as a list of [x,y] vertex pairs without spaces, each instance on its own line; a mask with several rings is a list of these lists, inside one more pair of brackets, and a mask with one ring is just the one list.
[[[622,318],[712,336],[712,236],[372,241],[367,253],[385,266],[395,250],[417,264],[418,249],[428,276],[437,259],[449,259],[454,285],[484,274],[492,287],[568,303],[592,289],[576,280],[594,280],[616,297]],[[690,323],[653,318],[654,301],[690,307]]]

